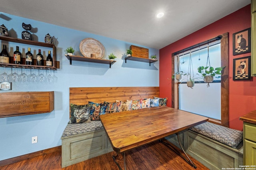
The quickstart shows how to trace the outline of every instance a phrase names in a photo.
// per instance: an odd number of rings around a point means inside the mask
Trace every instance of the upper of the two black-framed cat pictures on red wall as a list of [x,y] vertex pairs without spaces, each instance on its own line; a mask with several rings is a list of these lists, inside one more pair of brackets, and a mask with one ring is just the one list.
[[233,33],[233,55],[251,52],[251,28]]

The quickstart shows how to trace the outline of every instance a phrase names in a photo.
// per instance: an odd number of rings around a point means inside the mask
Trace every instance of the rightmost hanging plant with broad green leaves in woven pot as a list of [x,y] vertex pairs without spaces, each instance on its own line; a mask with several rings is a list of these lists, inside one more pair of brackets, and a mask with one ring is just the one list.
[[[209,64],[209,66],[208,66]],[[204,82],[207,83],[207,87],[210,87],[211,82],[213,82],[213,78],[220,78],[220,75],[222,74],[221,71],[225,68],[226,66],[223,67],[217,67],[213,68],[210,64],[210,58],[209,58],[209,45],[208,45],[208,56],[207,56],[207,62],[206,66],[199,66],[197,68],[200,76],[204,79]]]

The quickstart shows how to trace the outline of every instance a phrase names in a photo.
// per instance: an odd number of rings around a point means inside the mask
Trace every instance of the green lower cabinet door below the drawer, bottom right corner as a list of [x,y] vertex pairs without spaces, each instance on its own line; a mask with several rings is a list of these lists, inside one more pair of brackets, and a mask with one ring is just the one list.
[[256,165],[256,143],[246,139],[244,140],[244,165]]

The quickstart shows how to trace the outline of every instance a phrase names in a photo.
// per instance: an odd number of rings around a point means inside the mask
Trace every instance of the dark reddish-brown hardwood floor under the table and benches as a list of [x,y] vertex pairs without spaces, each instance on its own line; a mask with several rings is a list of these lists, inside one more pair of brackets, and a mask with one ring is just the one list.
[[[181,150],[165,139],[163,142],[155,141],[126,152],[126,168],[127,170],[195,170],[179,153],[181,153]],[[53,152],[2,166],[0,170],[118,170],[112,159],[114,154],[116,153],[110,152],[61,168],[61,152]],[[184,156],[184,154],[181,155]],[[196,164],[197,170],[208,170],[193,158],[191,160]],[[118,156],[117,162],[124,169],[121,154]]]

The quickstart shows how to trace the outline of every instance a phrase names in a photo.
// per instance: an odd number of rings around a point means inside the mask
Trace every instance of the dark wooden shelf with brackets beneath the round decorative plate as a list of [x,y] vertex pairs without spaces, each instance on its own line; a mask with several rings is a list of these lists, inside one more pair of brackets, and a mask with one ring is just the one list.
[[92,62],[92,63],[102,63],[102,64],[109,64],[109,68],[111,68],[111,65],[116,63],[116,61],[113,60],[106,60],[106,59],[96,59],[96,58],[90,58],[90,57],[82,57],[82,56],[75,56],[75,55],[66,55],[67,59],[70,60],[70,64],[72,64],[72,60],[74,61],[86,61],[86,62]]

